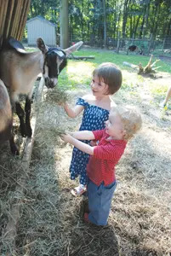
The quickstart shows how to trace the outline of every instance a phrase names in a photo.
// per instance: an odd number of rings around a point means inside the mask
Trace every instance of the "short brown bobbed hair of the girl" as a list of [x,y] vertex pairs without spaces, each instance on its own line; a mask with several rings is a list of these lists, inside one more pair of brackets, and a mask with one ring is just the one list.
[[104,62],[94,69],[93,75],[97,75],[99,79],[103,79],[104,83],[109,86],[108,94],[114,94],[120,89],[123,82],[121,70],[111,62]]

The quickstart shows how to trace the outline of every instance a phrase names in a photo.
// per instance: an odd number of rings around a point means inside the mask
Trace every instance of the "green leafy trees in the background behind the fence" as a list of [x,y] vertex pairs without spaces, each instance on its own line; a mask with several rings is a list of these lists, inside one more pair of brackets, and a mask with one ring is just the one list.
[[[113,47],[117,47],[118,32],[124,38],[147,39],[152,33],[153,38],[157,40],[163,40],[166,35],[170,35],[170,0],[70,0],[68,3],[72,42],[82,39],[92,45],[102,45],[105,37],[105,15],[106,36],[115,42],[115,45],[112,44]],[[37,15],[42,15],[57,24],[59,30],[60,0],[31,0],[28,19]],[[147,53],[146,41],[137,41],[136,44],[143,44]]]

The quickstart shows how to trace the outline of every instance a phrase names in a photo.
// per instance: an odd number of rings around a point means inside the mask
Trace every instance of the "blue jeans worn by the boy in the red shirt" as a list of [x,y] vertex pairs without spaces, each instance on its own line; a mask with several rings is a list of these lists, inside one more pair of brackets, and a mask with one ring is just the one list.
[[111,199],[117,187],[117,182],[105,186],[104,182],[100,186],[95,185],[88,179],[88,219],[96,225],[106,225],[111,209]]

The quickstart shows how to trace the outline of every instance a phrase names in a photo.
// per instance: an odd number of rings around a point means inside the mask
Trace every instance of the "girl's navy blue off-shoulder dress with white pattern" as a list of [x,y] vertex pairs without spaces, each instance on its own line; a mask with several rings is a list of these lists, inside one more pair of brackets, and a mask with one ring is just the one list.
[[[79,131],[95,131],[105,128],[105,121],[109,117],[109,111],[85,102],[82,98],[78,98],[77,105],[84,107],[83,120]],[[90,141],[83,141],[83,143],[89,143]],[[77,148],[73,148],[71,159],[71,179],[75,179],[80,176],[80,183],[87,184],[86,166],[88,164],[89,154],[82,152]]]

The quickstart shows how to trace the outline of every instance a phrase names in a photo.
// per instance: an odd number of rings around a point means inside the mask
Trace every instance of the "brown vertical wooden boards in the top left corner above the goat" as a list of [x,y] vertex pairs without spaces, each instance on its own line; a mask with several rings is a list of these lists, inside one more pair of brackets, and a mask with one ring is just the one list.
[[26,26],[31,0],[0,1],[0,44],[3,38],[13,37],[21,40]]

